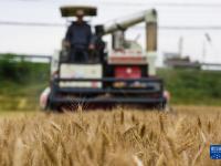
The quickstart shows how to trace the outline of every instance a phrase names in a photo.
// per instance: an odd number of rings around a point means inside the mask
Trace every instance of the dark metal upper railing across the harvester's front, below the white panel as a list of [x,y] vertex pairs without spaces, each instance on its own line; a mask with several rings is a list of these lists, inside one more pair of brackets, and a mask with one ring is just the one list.
[[[60,87],[60,82],[96,82],[103,83],[103,87]],[[145,83],[145,85],[138,86],[107,86],[105,87],[104,83]],[[101,93],[125,93],[125,94],[149,94],[149,93],[159,93],[162,94],[164,92],[164,81],[161,79],[156,77],[147,77],[147,79],[115,79],[115,77],[104,77],[104,79],[54,79],[54,86],[56,91],[62,93],[77,93],[77,94],[101,94]]]

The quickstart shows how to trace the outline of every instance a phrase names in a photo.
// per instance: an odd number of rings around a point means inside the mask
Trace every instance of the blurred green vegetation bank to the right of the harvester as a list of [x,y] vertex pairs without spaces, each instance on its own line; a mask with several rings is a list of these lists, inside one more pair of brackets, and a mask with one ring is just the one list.
[[175,104],[220,105],[221,72],[200,70],[159,70]]

